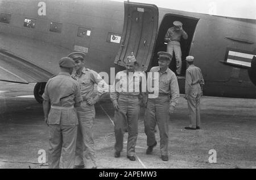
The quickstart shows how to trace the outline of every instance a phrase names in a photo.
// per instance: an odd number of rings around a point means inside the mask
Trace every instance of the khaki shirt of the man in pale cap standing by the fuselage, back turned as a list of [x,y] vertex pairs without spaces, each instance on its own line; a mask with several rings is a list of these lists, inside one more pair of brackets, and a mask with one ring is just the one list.
[[204,78],[201,69],[195,65],[190,65],[186,70],[185,94],[196,98],[201,95],[201,85],[204,85]]

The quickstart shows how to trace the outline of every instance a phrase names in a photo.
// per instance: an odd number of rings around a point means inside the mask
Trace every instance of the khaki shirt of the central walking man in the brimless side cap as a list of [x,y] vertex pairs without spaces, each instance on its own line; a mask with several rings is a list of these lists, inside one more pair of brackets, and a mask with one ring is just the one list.
[[142,72],[134,72],[127,74],[127,70],[118,72],[115,76],[115,82],[112,86],[110,98],[113,102],[117,102],[120,94],[122,95],[138,95],[143,98],[146,93],[146,76]]

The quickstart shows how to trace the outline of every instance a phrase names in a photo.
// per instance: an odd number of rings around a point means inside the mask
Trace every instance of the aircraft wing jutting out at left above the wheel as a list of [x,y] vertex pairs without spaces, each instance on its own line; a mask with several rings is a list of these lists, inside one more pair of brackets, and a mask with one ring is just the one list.
[[15,56],[13,53],[0,49],[0,81],[31,83],[47,82],[52,73]]

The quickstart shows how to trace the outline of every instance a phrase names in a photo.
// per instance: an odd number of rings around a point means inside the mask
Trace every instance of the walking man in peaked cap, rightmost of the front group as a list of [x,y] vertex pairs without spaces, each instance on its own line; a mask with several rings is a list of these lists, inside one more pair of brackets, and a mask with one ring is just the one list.
[[[172,55],[158,52],[158,56],[159,66],[151,68],[147,78],[148,101],[144,120],[148,146],[146,154],[151,154],[157,144],[154,133],[157,123],[162,160],[168,161],[168,120],[179,98],[179,85],[175,73],[168,68]],[[155,91],[158,91],[158,94],[155,95]],[[154,96],[151,96],[152,93]]]

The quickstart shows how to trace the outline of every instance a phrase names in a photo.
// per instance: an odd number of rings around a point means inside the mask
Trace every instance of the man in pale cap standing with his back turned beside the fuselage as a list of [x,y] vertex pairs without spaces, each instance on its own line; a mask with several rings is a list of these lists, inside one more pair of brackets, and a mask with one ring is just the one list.
[[194,57],[186,57],[188,69],[185,80],[185,99],[188,101],[188,111],[191,125],[185,129],[200,129],[200,98],[203,93],[204,78],[201,69],[193,64]]

